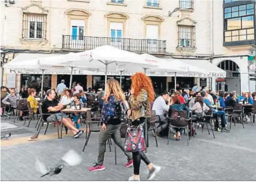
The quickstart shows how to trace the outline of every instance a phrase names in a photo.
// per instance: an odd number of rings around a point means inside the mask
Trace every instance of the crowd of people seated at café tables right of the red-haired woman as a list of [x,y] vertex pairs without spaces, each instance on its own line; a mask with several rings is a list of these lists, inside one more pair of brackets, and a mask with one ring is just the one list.
[[[251,94],[250,92],[242,92],[242,94],[238,96],[235,91],[228,93],[222,90],[213,92],[211,90],[201,89],[200,92],[195,92],[185,89],[184,93],[177,90],[170,97],[170,94],[164,91],[152,104],[152,110],[156,111],[157,120],[161,125],[161,127],[157,129],[157,134],[160,137],[167,135],[169,123],[166,115],[170,109],[187,111],[188,115],[189,111],[192,113],[205,114],[210,111],[214,120],[212,124],[215,130],[229,132],[225,108],[234,107],[235,103],[238,102],[254,104],[255,101],[256,93]],[[247,109],[248,108],[244,108],[244,111],[246,112]],[[245,118],[245,121],[248,119],[248,117]],[[174,130],[174,138],[179,140],[181,130],[179,128],[174,128]]]

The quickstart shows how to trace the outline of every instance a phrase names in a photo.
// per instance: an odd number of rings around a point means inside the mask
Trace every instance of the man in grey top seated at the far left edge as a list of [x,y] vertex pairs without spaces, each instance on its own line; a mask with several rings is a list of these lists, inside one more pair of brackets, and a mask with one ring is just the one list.
[[[7,107],[6,107],[6,111],[9,110],[9,108],[11,108],[12,111],[14,111],[14,113],[16,113],[16,108],[17,108],[17,99],[20,99],[20,96],[16,95],[16,90],[15,88],[11,88],[10,90],[10,95],[7,95],[3,100],[2,103],[4,103]],[[8,113],[8,115],[11,115],[11,112]]]

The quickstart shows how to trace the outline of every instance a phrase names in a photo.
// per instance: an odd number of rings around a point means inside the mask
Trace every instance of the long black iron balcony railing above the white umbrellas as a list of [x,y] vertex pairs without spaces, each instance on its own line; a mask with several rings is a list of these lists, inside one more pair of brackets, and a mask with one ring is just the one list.
[[111,45],[132,52],[166,52],[166,40],[126,39],[63,35],[62,48],[90,50],[102,45]]

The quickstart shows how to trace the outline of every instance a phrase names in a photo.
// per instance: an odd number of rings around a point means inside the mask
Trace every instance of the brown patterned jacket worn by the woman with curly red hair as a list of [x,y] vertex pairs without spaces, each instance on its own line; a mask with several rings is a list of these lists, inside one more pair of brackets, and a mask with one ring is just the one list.
[[132,121],[138,120],[141,117],[151,117],[150,101],[148,101],[148,95],[145,89],[141,89],[138,96],[130,96],[130,107],[132,109]]

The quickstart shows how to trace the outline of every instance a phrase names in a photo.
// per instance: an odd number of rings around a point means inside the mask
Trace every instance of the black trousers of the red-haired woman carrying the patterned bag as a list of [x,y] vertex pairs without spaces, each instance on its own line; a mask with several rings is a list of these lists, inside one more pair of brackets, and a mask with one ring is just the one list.
[[[140,123],[143,123],[145,118],[140,118],[138,121],[133,121],[133,125],[138,126]],[[144,131],[145,132],[145,131]],[[144,161],[146,165],[150,164],[151,162],[144,154],[144,152],[132,152],[133,154],[133,173],[135,175],[140,175],[140,161]]]

